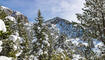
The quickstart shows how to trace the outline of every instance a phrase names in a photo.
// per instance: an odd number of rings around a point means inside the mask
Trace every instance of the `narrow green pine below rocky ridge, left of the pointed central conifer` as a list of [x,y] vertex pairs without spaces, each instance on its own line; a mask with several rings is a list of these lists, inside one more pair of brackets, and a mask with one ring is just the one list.
[[19,36],[23,38],[21,43],[20,43],[20,48],[22,50],[22,53],[18,57],[18,59],[29,60],[29,55],[30,55],[29,51],[30,51],[30,48],[29,48],[28,35],[27,35],[26,30],[25,30],[24,23],[21,21],[21,19],[18,19],[17,22],[18,22],[17,26],[18,26]]

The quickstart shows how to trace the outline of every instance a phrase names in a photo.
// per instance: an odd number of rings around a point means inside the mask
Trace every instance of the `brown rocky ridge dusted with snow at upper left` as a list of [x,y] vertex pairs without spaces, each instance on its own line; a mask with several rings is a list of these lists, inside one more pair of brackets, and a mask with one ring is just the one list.
[[14,17],[16,20],[20,19],[21,22],[28,23],[27,17],[21,14],[20,12],[13,11],[4,6],[0,6],[0,10],[3,10],[7,15]]

